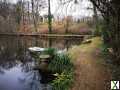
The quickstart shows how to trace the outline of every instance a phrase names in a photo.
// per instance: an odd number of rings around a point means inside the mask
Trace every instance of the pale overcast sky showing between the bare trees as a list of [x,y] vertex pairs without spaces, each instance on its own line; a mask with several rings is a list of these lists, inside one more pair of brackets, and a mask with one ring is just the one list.
[[[11,0],[13,3],[16,3],[17,0]],[[30,0],[29,0],[30,1]],[[46,0],[47,1],[47,0]],[[74,16],[75,18],[82,18],[82,17],[87,17],[87,16],[92,16],[93,12],[92,10],[88,10],[88,7],[92,7],[92,4],[87,1],[83,0],[82,2],[78,2],[78,4],[74,4],[71,2],[67,8],[67,13],[66,13],[66,5],[58,5],[60,0],[51,0],[51,12],[55,16],[66,16],[66,15],[71,15]],[[78,0],[80,1],[80,0]],[[42,14],[47,14],[47,8],[42,11]]]

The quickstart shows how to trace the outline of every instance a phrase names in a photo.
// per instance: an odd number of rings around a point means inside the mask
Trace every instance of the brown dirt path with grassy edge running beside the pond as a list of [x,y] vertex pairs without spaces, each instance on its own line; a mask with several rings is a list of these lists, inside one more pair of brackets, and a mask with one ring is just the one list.
[[[94,40],[96,42],[94,42]],[[93,39],[88,45],[75,47],[76,55],[75,82],[71,90],[110,90],[108,83],[111,80],[109,69],[101,63],[102,58],[98,55],[100,38]]]

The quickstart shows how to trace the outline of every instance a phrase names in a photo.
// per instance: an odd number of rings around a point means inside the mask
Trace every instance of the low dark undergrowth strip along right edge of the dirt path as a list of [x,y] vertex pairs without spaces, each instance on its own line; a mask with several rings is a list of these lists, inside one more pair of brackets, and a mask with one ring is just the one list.
[[102,44],[101,45],[101,55],[105,59],[105,63],[110,68],[110,71],[112,73],[112,79],[113,80],[120,80],[120,66],[115,63],[115,58],[109,51],[109,46]]

